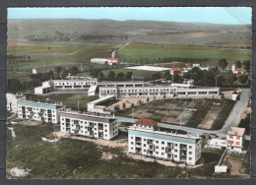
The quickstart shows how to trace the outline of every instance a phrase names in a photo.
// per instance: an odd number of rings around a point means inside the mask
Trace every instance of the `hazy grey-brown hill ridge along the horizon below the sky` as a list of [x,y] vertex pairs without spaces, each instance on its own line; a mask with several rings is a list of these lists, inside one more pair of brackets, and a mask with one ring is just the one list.
[[54,36],[56,31],[78,34],[136,34],[150,31],[251,31],[251,26],[191,24],[155,21],[113,21],[83,19],[8,20],[8,38],[26,38],[32,34]]

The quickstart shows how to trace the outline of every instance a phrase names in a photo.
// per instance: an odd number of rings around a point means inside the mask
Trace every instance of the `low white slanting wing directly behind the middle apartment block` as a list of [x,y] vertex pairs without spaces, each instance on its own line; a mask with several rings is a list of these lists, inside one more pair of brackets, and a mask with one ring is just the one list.
[[111,114],[110,111],[106,110],[106,104],[116,99],[116,95],[107,95],[98,98],[94,101],[87,103],[87,110],[89,112],[96,112],[102,114]]

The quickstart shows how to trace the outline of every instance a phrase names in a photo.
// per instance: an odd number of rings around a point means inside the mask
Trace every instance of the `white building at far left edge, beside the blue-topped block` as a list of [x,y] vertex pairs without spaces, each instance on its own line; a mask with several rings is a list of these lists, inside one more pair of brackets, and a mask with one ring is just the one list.
[[6,93],[6,100],[7,100],[7,110],[17,113],[18,112],[18,100],[25,100],[25,95],[13,94],[13,93]]

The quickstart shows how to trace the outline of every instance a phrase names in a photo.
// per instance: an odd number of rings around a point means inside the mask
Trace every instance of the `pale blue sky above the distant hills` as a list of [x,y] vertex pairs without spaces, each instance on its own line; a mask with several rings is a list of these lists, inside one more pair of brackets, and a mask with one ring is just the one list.
[[251,8],[8,8],[8,19],[111,19],[247,25],[251,24]]

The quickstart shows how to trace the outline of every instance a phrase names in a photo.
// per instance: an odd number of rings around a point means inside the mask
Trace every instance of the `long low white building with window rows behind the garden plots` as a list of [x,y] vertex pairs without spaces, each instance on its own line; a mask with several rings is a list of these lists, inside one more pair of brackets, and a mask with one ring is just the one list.
[[115,94],[117,97],[218,98],[219,93],[219,88],[179,88],[171,86],[99,87],[99,97]]

